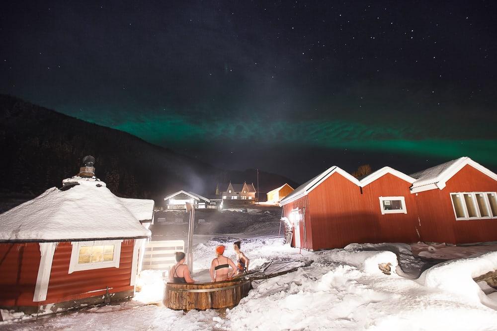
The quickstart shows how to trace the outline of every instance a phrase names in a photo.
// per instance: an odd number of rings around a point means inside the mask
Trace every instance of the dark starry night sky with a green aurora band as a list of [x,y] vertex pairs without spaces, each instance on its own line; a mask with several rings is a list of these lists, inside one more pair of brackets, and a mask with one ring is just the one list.
[[298,182],[497,168],[495,1],[10,2],[1,93]]

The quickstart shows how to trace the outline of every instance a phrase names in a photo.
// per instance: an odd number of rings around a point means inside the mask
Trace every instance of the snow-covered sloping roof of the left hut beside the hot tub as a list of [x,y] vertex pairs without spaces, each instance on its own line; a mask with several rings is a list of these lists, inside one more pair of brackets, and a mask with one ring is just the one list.
[[63,189],[48,189],[0,214],[0,242],[150,236],[139,219],[150,218],[153,200],[118,198],[97,179],[73,178],[64,183]]

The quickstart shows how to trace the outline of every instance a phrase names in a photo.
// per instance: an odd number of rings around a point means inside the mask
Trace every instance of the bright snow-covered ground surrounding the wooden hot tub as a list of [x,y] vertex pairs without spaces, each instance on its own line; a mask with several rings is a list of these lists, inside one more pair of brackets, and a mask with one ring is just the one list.
[[[245,238],[242,250],[253,267],[284,258],[315,262],[296,272],[254,281],[248,297],[232,310],[167,309],[161,303],[162,272],[145,270],[139,280],[142,290],[133,301],[0,324],[0,329],[497,330],[497,292],[481,285],[484,292],[472,280],[497,269],[495,252],[435,265],[414,279],[426,265],[406,244],[353,244],[310,253],[283,245],[277,236],[203,235],[195,236],[194,276],[210,265],[220,243],[227,245],[225,254],[234,257],[231,243],[239,238]],[[390,275],[378,268],[386,263],[392,265]]]

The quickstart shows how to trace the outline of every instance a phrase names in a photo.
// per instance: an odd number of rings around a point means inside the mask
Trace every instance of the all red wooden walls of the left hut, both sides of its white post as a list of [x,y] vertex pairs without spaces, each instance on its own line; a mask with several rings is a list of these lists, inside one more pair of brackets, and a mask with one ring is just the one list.
[[82,270],[69,273],[72,245],[57,245],[52,262],[47,299],[33,302],[38,269],[40,246],[38,243],[0,244],[0,306],[41,306],[70,300],[133,290],[131,266],[134,240],[121,244],[119,268]]

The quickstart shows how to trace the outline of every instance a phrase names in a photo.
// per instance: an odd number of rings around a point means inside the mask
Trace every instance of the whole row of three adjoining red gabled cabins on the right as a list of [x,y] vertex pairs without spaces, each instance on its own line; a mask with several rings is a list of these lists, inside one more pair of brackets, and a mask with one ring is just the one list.
[[497,240],[497,174],[462,157],[410,176],[384,167],[356,179],[331,167],[281,200],[292,246]]

